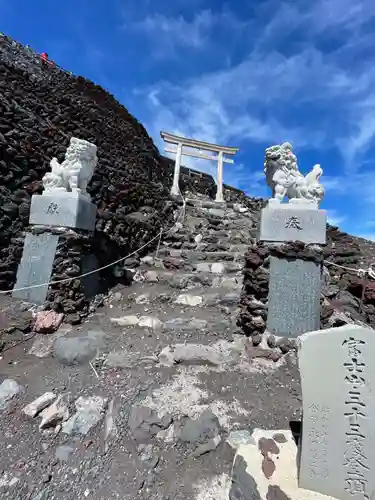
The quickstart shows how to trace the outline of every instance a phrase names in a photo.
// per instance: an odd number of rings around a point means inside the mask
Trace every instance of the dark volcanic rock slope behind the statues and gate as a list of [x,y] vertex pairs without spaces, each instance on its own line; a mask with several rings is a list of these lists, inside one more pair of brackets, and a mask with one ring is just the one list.
[[[101,87],[57,66],[42,66],[32,50],[0,36],[1,290],[11,289],[15,281],[31,195],[41,192],[51,158],[63,159],[72,136],[98,146],[99,163],[89,192],[98,207],[94,245],[100,265],[125,256],[172,223],[173,161],[159,154],[144,127]],[[183,192],[209,197],[216,190],[211,176],[186,168],[180,184]],[[229,186],[225,197],[251,207],[253,213],[263,204]],[[374,248],[371,242],[329,227],[325,258],[359,268],[372,261]],[[361,306],[362,278],[333,266],[328,269],[333,285],[327,292],[329,303],[374,324],[375,285],[367,286]],[[112,271],[102,278],[113,281]],[[248,266],[245,273],[246,284],[254,277]]]

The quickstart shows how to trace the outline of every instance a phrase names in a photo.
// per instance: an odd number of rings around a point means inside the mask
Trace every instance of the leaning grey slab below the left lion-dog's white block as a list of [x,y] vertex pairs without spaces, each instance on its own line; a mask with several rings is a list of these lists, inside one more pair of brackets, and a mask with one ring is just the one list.
[[[30,287],[50,281],[58,239],[57,235],[50,233],[26,234],[14,288]],[[43,304],[47,292],[48,285],[45,285],[13,291],[12,296],[35,304]]]

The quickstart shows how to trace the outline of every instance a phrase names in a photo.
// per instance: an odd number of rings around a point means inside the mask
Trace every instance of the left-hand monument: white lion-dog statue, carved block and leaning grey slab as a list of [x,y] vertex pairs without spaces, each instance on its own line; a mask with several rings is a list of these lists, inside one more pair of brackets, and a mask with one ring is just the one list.
[[[65,252],[64,238],[69,234],[76,240],[87,239],[93,233],[96,206],[86,188],[97,164],[96,153],[94,144],[72,137],[64,161],[60,164],[56,158],[51,160],[51,172],[43,177],[43,194],[31,199],[30,226],[13,297],[43,304],[48,285],[36,285],[51,281],[55,256],[61,258]],[[82,255],[83,267],[85,257],[92,262],[92,256]],[[35,288],[17,290],[32,286]]]

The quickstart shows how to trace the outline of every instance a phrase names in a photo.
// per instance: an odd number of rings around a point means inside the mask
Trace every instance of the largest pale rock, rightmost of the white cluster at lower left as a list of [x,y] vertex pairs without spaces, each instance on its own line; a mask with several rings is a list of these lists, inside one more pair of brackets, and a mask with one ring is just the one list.
[[63,424],[62,431],[69,435],[85,435],[103,418],[107,399],[100,396],[79,397],[75,402],[77,412]]

